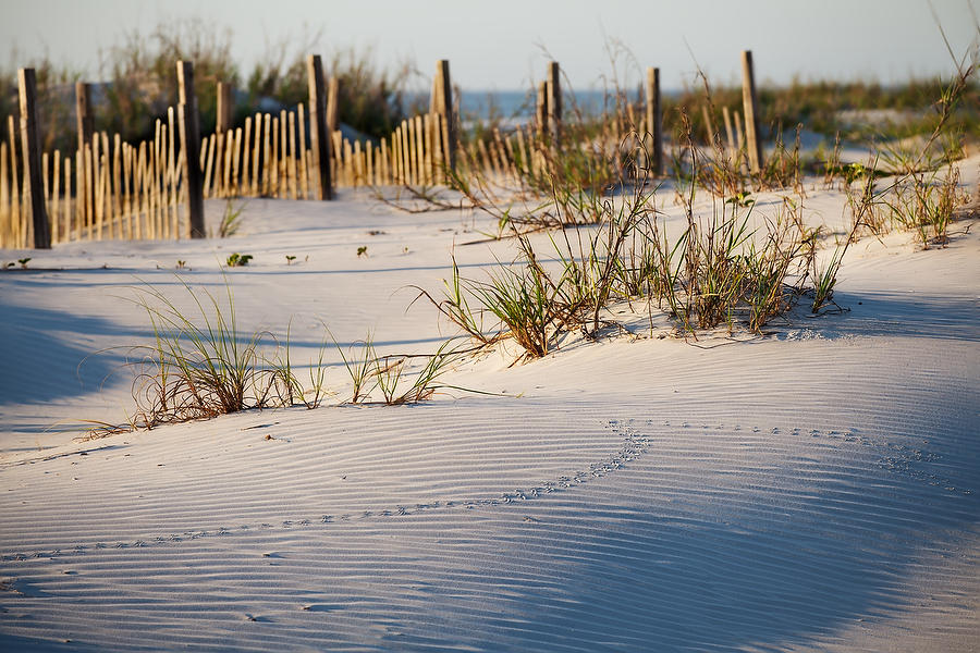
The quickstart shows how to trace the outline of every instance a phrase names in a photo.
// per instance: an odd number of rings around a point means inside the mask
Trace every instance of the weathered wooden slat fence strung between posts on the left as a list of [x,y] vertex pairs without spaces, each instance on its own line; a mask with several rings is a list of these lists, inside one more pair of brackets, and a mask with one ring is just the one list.
[[[444,183],[444,119],[404,121],[389,138],[362,143],[332,135],[335,186]],[[0,247],[30,247],[30,196],[17,120],[0,139]],[[201,141],[204,197],[315,199],[318,172],[306,108],[256,113],[244,127]],[[72,155],[45,152],[45,201],[51,242],[188,237],[179,124],[171,108],[154,138],[139,144],[98,133]]]

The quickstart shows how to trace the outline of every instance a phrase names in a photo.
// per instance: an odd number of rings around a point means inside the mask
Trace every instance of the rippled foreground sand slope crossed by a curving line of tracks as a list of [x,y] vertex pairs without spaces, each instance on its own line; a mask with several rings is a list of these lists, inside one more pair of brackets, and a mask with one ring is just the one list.
[[[977,470],[941,438],[510,408],[378,411],[372,434],[353,411],[242,418],[182,465],[144,442],[3,468],[61,476],[45,505],[3,497],[0,644],[880,650],[865,630],[940,607],[896,631],[908,650],[978,641]],[[130,477],[88,465],[126,453]],[[272,471],[218,471],[240,456]]]

